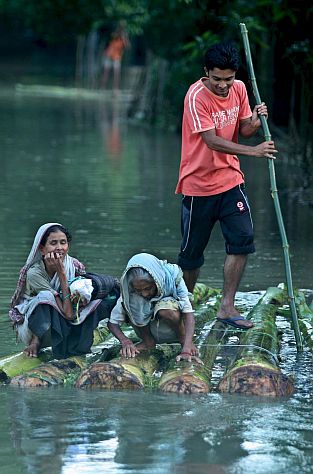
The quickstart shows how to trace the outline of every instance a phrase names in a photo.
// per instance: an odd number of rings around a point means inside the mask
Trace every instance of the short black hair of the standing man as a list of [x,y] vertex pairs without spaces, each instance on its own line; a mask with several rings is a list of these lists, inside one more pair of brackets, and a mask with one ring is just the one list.
[[238,71],[240,55],[237,47],[230,41],[216,43],[204,55],[204,65],[208,71],[218,69],[232,69]]

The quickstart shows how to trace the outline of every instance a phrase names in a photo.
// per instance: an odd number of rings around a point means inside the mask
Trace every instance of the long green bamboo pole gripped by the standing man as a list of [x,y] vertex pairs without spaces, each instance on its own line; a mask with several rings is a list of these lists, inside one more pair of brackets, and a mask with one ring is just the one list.
[[[246,54],[246,60],[247,60],[250,80],[251,80],[251,83],[252,83],[252,89],[253,89],[254,97],[255,97],[256,103],[258,105],[260,105],[262,103],[262,101],[261,101],[261,97],[260,97],[260,94],[259,94],[255,74],[254,74],[254,68],[253,68],[251,51],[250,51],[250,44],[249,44],[249,39],[248,39],[248,30],[247,30],[246,25],[244,23],[240,23],[240,29],[241,29],[241,34],[242,34],[242,39],[243,39],[243,44],[244,44],[244,50],[245,50],[245,54]],[[264,132],[264,138],[265,138],[266,141],[269,141],[269,140],[271,140],[271,134],[270,134],[270,130],[269,130],[267,120],[263,115],[260,116],[260,120],[261,120],[261,124],[262,124],[262,128],[263,128],[263,132]],[[289,244],[288,244],[287,235],[286,235],[286,231],[285,231],[283,216],[282,216],[281,209],[280,209],[278,190],[277,190],[277,185],[276,185],[276,177],[275,177],[274,160],[269,158],[267,161],[268,161],[269,173],[270,173],[271,195],[272,195],[272,198],[273,198],[273,201],[274,201],[274,207],[275,207],[278,227],[279,227],[280,236],[281,236],[281,240],[282,240],[283,253],[284,253],[285,270],[286,270],[286,278],[287,278],[287,289],[288,289],[288,296],[289,296],[289,305],[290,305],[291,315],[292,315],[293,330],[294,330],[294,333],[295,333],[297,350],[299,352],[301,352],[301,351],[303,351],[303,344],[302,344],[302,338],[301,338],[300,329],[299,329],[299,322],[298,322],[297,310],[296,310],[296,305],[295,305],[295,297],[294,297],[293,286],[292,286],[292,276],[291,276],[291,266],[290,266],[290,256],[289,256]]]

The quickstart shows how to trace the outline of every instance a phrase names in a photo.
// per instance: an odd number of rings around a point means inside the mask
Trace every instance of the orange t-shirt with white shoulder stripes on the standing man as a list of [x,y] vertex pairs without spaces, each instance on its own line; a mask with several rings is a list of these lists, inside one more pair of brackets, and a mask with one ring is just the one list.
[[192,84],[184,102],[182,151],[176,193],[210,196],[244,182],[236,155],[208,148],[200,132],[215,129],[216,135],[238,142],[239,121],[252,115],[246,86],[235,80],[227,97],[211,92],[201,78]]

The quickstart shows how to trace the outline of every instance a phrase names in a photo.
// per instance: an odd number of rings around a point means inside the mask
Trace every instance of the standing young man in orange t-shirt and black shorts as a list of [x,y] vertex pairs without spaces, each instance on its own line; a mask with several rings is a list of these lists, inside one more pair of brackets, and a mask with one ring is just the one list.
[[226,260],[221,307],[217,318],[241,329],[253,326],[234,306],[235,294],[247,261],[255,251],[253,225],[237,153],[275,158],[274,142],[256,146],[238,144],[238,134],[253,136],[267,118],[265,104],[251,112],[247,90],[236,80],[239,52],[232,43],[208,49],[202,77],[186,94],[182,126],[182,154],[176,193],[183,194],[182,243],[178,264],[193,291],[203,252],[216,221],[225,239]]

